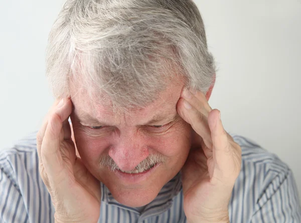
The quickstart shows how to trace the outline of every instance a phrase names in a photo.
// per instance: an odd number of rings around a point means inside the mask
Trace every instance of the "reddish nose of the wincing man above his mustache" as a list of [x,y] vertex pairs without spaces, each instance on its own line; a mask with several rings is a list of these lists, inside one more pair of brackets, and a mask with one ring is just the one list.
[[123,171],[130,171],[148,156],[148,149],[139,136],[123,136],[109,150],[109,156]]

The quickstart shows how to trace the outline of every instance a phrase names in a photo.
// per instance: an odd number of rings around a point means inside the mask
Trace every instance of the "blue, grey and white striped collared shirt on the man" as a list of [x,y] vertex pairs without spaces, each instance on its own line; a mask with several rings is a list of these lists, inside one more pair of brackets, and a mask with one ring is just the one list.
[[[0,154],[0,222],[54,222],[54,207],[38,169],[36,133]],[[242,148],[242,166],[229,202],[230,222],[301,222],[291,170],[248,138],[231,134]],[[139,209],[118,203],[100,183],[98,222],[186,222],[178,173],[158,196]]]

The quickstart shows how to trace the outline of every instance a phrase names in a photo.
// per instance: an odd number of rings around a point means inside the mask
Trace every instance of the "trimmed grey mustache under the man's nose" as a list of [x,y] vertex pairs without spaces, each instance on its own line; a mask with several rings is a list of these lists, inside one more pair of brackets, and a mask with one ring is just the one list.
[[[157,163],[165,163],[166,158],[161,154],[151,154],[147,156],[145,159],[143,159],[135,168],[132,170],[143,170],[143,169],[149,169],[153,166],[155,166]],[[115,161],[109,156],[104,155],[100,158],[98,162],[99,167],[107,167],[110,171],[116,172],[120,170],[120,168],[117,166]]]

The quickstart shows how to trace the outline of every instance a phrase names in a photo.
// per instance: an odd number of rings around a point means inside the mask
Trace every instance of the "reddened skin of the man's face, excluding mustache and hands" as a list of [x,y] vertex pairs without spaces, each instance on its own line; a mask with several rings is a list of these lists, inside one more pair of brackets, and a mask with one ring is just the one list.
[[[133,109],[129,114],[113,112],[109,102],[91,104],[81,100],[86,96],[81,92],[72,96],[75,109],[71,121],[80,157],[89,172],[108,187],[118,202],[132,207],[146,205],[184,165],[191,147],[192,129],[176,110],[183,86],[174,82],[154,103],[145,109]],[[71,95],[75,95],[73,88]],[[99,124],[95,123],[96,120],[93,122],[90,118],[83,118],[84,112],[96,117]],[[160,114],[166,118],[148,123]],[[153,127],[166,124],[163,128]],[[93,125],[104,127],[92,129]],[[100,157],[107,154],[124,171],[134,169],[150,154],[161,154],[166,162],[156,168],[150,177],[133,184],[123,182],[108,168],[98,166]]]

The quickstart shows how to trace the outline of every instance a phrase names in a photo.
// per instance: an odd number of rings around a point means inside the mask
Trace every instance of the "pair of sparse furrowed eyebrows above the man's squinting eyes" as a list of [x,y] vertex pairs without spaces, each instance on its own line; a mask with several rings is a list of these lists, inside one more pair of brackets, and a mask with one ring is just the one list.
[[[75,117],[82,121],[82,122],[86,122],[89,124],[93,124],[93,125],[98,125],[98,126],[109,126],[110,124],[106,123],[106,122],[100,122],[99,120],[97,120],[96,118],[93,118],[90,114],[79,110],[79,109],[73,109]],[[167,123],[172,122],[176,119],[178,119],[180,117],[180,115],[177,113],[177,111],[175,113],[170,113],[170,114],[157,114],[155,115],[152,120],[147,121],[146,123],[143,123],[141,125],[154,125],[154,124],[158,124],[160,122],[166,121]],[[165,123],[165,124],[167,124]],[[163,123],[162,123],[163,124]]]

